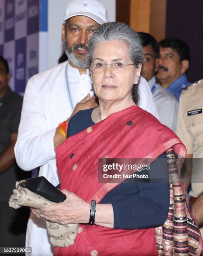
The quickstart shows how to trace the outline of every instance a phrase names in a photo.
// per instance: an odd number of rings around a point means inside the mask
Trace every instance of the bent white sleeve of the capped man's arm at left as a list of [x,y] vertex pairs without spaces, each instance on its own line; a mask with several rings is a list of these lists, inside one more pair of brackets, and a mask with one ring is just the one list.
[[46,119],[33,85],[33,82],[28,81],[25,89],[18,138],[14,148],[17,164],[25,171],[56,158],[53,144],[56,128],[47,131]]

